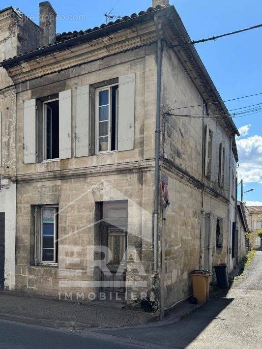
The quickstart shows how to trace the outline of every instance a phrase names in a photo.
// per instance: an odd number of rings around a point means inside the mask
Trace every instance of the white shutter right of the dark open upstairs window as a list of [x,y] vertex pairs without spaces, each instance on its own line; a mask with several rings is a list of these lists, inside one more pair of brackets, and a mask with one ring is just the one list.
[[71,89],[59,92],[59,159],[72,157]]

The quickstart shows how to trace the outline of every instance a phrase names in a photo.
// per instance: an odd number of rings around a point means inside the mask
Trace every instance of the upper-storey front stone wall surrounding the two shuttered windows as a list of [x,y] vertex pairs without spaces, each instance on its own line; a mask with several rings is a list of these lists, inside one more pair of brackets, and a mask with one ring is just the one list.
[[[76,87],[92,85],[135,72],[135,138],[134,149],[88,157],[72,158],[49,163],[23,164],[23,106],[24,101],[46,97],[60,91],[72,90],[72,129],[75,127]],[[128,51],[104,58],[99,62],[83,64],[43,79],[17,86],[17,174],[36,174],[65,169],[77,169],[140,161],[154,157],[156,110],[156,62],[154,46]],[[94,115],[91,115],[94,117]]]

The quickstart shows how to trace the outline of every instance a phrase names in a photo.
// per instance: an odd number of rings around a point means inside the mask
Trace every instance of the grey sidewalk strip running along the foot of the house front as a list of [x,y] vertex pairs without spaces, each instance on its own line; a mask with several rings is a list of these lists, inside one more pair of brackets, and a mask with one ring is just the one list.
[[106,302],[65,302],[0,291],[0,319],[54,328],[108,328],[154,322],[157,315]]

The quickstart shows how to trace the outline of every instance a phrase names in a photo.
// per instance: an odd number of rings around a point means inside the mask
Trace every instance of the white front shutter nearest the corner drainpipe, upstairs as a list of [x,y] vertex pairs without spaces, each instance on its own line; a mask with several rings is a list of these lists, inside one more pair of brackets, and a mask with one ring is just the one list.
[[119,77],[118,151],[134,149],[135,73]]

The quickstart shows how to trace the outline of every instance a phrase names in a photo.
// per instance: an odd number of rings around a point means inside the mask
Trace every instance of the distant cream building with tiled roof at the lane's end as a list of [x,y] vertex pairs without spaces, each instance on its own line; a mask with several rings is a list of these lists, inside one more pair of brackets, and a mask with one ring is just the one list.
[[250,245],[252,250],[262,249],[262,239],[258,231],[262,229],[262,206],[246,206],[246,215],[250,227]]

